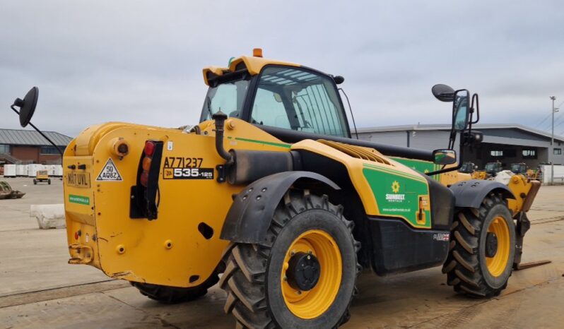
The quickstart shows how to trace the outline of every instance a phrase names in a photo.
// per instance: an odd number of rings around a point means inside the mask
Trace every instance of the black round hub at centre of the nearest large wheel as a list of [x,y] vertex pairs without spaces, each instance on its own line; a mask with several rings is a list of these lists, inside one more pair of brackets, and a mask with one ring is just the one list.
[[310,291],[319,280],[319,261],[311,253],[295,253],[288,262],[288,284],[296,290]]

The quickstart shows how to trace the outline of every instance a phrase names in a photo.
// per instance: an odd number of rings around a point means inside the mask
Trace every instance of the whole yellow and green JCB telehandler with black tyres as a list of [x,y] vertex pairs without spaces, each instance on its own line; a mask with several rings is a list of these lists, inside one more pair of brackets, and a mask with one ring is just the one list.
[[[345,323],[361,268],[442,265],[455,291],[500,294],[539,185],[457,172],[457,136],[459,163],[481,140],[478,95],[433,87],[453,107],[449,145],[431,152],[351,138],[343,80],[257,50],[204,68],[189,130],[86,128],[64,150],[69,263],[165,303],[219,282],[225,312],[247,328]],[[34,88],[12,105],[22,126],[36,102]]]

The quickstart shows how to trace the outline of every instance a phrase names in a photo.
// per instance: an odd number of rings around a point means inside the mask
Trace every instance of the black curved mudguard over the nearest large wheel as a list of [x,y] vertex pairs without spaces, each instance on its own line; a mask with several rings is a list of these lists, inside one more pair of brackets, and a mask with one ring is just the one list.
[[237,194],[225,217],[221,239],[264,244],[278,202],[295,181],[302,179],[321,182],[331,189],[341,189],[327,177],[315,172],[279,172],[263,177]]

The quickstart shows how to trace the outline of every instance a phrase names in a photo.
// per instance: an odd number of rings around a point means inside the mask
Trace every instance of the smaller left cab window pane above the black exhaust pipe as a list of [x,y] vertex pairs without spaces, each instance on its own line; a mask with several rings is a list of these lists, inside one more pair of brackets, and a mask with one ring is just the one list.
[[211,114],[221,112],[229,117],[240,118],[249,89],[249,80],[233,80],[210,87],[204,100],[203,119],[211,119]]

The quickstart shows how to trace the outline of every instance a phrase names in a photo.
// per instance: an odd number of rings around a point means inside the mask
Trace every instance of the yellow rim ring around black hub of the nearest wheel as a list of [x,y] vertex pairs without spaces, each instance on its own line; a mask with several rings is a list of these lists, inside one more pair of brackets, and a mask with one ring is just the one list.
[[[290,258],[298,252],[311,253],[319,261],[319,280],[309,291],[296,290],[286,280]],[[339,292],[342,265],[339,246],[327,232],[311,229],[296,238],[286,251],[282,265],[282,294],[288,309],[299,318],[321,316],[333,304]]]

